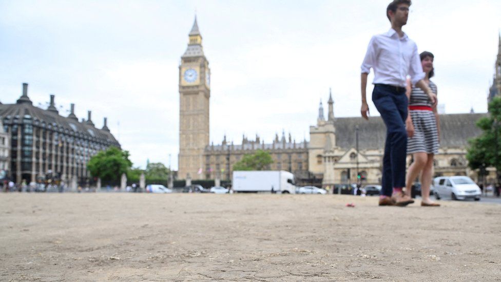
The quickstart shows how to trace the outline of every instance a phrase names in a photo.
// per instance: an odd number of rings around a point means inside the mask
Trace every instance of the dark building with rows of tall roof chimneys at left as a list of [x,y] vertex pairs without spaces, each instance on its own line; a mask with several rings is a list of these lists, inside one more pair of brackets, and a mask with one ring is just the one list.
[[71,114],[63,117],[50,97],[47,109],[33,106],[28,97],[28,84],[15,104],[0,105],[0,119],[8,135],[10,164],[8,177],[16,183],[27,183],[50,177],[79,182],[89,180],[87,162],[109,146],[120,147],[104,119],[103,128],[94,126],[91,112],[79,122],[71,104]]

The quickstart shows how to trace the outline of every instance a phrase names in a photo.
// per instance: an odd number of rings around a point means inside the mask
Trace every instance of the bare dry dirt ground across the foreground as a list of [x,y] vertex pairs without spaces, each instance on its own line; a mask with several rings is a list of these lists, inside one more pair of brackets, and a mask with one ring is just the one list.
[[2,281],[501,281],[498,204],[131,193],[0,203]]

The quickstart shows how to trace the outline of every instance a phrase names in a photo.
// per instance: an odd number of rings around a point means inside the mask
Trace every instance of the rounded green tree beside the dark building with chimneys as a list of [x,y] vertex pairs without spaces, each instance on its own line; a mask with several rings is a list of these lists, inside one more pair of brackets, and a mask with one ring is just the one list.
[[101,178],[103,181],[117,181],[123,173],[127,173],[132,166],[129,152],[117,147],[109,147],[105,151],[90,158],[87,169],[92,177]]

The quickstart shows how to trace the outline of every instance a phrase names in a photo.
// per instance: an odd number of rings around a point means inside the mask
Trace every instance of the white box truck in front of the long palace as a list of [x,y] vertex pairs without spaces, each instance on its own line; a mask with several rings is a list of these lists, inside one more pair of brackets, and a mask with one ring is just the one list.
[[294,175],[286,171],[236,171],[233,191],[295,194],[296,185]]

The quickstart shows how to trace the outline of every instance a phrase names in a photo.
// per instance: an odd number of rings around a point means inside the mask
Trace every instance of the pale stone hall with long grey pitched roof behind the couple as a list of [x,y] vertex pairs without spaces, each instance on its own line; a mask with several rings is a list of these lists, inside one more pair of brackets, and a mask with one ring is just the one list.
[[[323,112],[322,105],[319,112]],[[486,116],[473,113],[440,115],[440,149],[435,156],[435,176],[468,175],[478,180],[477,173],[467,166],[466,153],[468,140],[481,133],[476,121]],[[310,127],[310,172],[322,178],[325,188],[354,183],[358,174],[363,179],[362,184],[379,184],[385,139],[386,127],[380,117],[370,117],[368,121],[361,117],[324,120],[319,115],[317,125]],[[411,163],[412,158],[408,156],[408,164]]]

